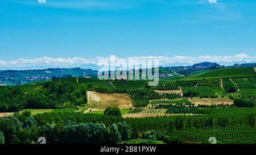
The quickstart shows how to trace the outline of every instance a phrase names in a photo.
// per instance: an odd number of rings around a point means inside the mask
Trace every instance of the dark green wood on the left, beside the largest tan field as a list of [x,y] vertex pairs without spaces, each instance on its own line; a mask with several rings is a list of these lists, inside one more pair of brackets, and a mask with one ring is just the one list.
[[44,83],[35,93],[19,87],[0,90],[0,112],[15,112],[25,108],[75,108],[87,102],[86,86],[75,82]]

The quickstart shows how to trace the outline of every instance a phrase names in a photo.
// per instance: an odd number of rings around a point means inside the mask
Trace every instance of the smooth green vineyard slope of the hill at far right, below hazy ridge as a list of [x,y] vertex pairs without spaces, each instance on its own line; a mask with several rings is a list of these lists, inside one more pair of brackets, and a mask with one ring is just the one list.
[[255,76],[254,68],[222,68],[211,70],[209,72],[196,74],[184,79],[203,79],[203,78],[222,78],[222,77],[244,77]]

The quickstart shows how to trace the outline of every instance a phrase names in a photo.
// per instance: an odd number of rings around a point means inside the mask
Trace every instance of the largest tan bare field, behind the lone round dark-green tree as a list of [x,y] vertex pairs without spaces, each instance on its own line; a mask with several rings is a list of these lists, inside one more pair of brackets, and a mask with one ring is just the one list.
[[[123,93],[123,94],[107,94],[107,93],[97,93],[94,91],[87,91],[87,97],[88,97],[88,101],[89,101],[89,104],[88,104],[89,107],[90,107],[91,103],[95,104],[96,102],[98,102],[98,105],[107,104],[106,105],[107,107],[109,107],[108,104],[111,104],[112,106],[118,106],[119,108],[129,108],[129,107],[133,106],[133,104],[131,103],[131,99],[125,93]],[[90,102],[90,101],[92,101],[92,102]],[[102,106],[101,106],[101,108],[102,108]],[[103,107],[105,107],[105,106],[103,106]],[[100,107],[93,106],[91,108],[100,108]]]

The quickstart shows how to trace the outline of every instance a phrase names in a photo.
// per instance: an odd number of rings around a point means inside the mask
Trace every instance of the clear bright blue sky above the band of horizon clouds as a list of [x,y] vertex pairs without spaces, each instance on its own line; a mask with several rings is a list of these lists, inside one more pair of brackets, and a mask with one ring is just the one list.
[[13,61],[19,64],[20,58],[90,60],[110,55],[122,58],[242,55],[247,58],[242,61],[255,61],[253,0],[0,2],[2,66]]

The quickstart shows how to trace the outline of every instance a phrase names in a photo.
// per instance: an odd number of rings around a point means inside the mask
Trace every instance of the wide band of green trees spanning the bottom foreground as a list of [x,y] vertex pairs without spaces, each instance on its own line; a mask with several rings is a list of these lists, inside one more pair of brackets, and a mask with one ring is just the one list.
[[47,143],[121,143],[131,139],[208,143],[211,135],[220,143],[256,143],[255,108],[203,108],[199,112],[201,115],[150,118],[81,112],[49,112],[35,116],[30,112],[16,113],[0,118],[0,141],[37,143],[38,137],[44,136]]

